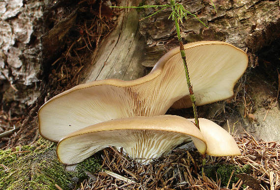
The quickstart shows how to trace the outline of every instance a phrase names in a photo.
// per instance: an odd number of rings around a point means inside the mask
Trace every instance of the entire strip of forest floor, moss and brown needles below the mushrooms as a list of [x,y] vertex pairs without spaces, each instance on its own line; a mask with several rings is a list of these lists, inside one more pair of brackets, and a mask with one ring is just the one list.
[[32,145],[0,151],[0,189],[279,189],[280,144],[256,141],[247,132],[234,138],[242,155],[207,157],[204,179],[201,157],[190,148],[174,149],[141,165],[110,147],[79,163],[73,174],[57,161],[55,143],[40,138]]

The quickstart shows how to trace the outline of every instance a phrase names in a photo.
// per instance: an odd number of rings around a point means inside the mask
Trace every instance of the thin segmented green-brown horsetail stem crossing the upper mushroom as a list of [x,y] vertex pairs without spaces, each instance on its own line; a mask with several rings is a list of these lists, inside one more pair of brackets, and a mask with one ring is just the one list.
[[172,12],[174,12],[173,19],[174,19],[174,22],[175,22],[178,41],[179,41],[179,44],[180,44],[180,53],[181,53],[181,57],[182,57],[182,60],[183,60],[183,63],[184,63],[184,67],[185,67],[185,73],[186,73],[187,84],[188,84],[188,88],[189,88],[189,92],[190,92],[190,98],[191,98],[191,101],[192,101],[192,104],[193,104],[196,127],[199,129],[198,114],[197,114],[197,109],[196,109],[196,97],[195,97],[195,94],[194,94],[194,91],[193,91],[193,86],[191,84],[191,80],[190,80],[190,76],[189,76],[189,70],[188,70],[188,65],[187,65],[187,61],[186,61],[186,53],[185,53],[185,48],[184,48],[182,38],[181,38],[180,27],[179,27],[179,23],[178,23],[178,20],[177,20],[177,15],[175,14],[176,11],[174,10],[175,9],[175,1],[171,0],[170,3],[171,3],[171,6],[172,6]]

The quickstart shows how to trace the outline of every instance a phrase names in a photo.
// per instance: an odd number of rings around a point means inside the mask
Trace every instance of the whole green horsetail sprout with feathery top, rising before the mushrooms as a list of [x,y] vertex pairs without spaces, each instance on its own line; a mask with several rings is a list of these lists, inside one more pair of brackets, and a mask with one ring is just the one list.
[[[211,0],[211,2],[212,2],[212,5],[215,8],[215,11],[217,12],[216,7],[215,7],[212,0]],[[181,53],[181,57],[182,57],[182,60],[183,60],[183,63],[184,63],[186,80],[187,80],[187,84],[188,84],[188,88],[189,88],[189,92],[190,92],[190,98],[191,98],[191,101],[192,101],[192,104],[193,104],[193,109],[194,109],[195,125],[200,130],[199,121],[198,121],[198,113],[197,113],[197,109],[196,109],[196,96],[194,94],[193,86],[191,84],[191,80],[190,80],[190,76],[189,76],[189,70],[188,70],[188,65],[187,65],[187,61],[186,61],[186,53],[185,53],[184,45],[183,45],[182,38],[181,38],[181,32],[180,32],[180,27],[179,27],[178,20],[181,21],[181,23],[183,23],[182,20],[184,18],[187,20],[187,16],[192,15],[201,24],[203,24],[205,27],[207,27],[207,26],[195,14],[186,10],[182,4],[176,3],[175,0],[171,0],[170,4],[164,4],[164,5],[111,6],[111,7],[114,7],[114,8],[149,8],[149,7],[158,8],[158,7],[162,7],[160,10],[154,12],[153,14],[140,19],[140,21],[143,20],[143,19],[152,17],[155,14],[159,13],[160,11],[163,11],[166,8],[171,8],[172,9],[172,12],[171,12],[170,16],[168,17],[168,19],[172,18],[172,20],[174,20],[174,22],[175,22],[177,37],[178,37],[178,41],[179,41],[179,44],[180,44],[180,53]],[[201,172],[202,172],[202,177],[203,177],[204,176],[204,166],[205,166],[205,163],[206,163],[205,154],[203,154],[201,157],[202,157]]]

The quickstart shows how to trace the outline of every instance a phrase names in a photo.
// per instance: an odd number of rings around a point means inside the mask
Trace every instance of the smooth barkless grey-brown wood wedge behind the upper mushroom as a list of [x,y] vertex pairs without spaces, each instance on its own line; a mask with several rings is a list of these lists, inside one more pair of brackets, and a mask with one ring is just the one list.
[[[138,4],[137,0],[122,1],[122,6]],[[84,82],[117,78],[134,80],[145,74],[141,65],[145,39],[139,32],[139,17],[135,9],[124,9],[118,24],[108,37],[102,40],[96,58],[84,73]]]

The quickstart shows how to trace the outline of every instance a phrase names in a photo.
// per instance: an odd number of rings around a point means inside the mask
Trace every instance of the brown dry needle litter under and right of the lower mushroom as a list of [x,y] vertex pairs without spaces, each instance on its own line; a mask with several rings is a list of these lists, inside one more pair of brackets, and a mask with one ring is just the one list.
[[[280,188],[280,144],[256,141],[247,132],[242,136],[235,135],[234,138],[242,155],[234,158],[207,157],[207,176],[204,179],[199,173],[201,159],[195,151],[175,149],[148,165],[141,165],[113,148],[107,148],[102,156],[103,171],[88,175],[81,183],[80,190]],[[212,166],[215,167],[214,173],[207,173]]]

